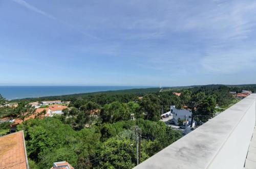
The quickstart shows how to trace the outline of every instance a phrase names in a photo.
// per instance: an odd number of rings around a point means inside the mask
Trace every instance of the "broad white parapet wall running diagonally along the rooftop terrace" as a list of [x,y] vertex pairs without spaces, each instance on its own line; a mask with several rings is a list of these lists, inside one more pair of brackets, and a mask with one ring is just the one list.
[[242,169],[255,120],[251,94],[135,168]]

